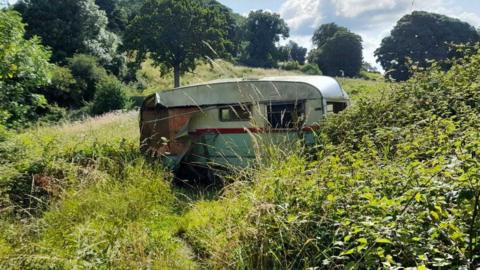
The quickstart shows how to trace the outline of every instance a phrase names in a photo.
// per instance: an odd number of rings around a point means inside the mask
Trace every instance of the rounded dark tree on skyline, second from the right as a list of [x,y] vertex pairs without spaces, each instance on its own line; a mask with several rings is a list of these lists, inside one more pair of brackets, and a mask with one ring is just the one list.
[[328,76],[355,77],[362,67],[362,38],[335,23],[321,25],[314,33],[315,48],[309,61]]

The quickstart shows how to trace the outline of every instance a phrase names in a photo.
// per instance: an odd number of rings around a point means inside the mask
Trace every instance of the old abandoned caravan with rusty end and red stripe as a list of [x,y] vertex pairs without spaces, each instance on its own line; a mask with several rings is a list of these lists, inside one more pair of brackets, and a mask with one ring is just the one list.
[[338,82],[324,76],[221,80],[147,97],[140,113],[141,148],[167,166],[246,166],[253,135],[301,136],[348,105]]

